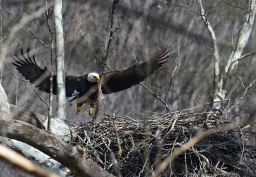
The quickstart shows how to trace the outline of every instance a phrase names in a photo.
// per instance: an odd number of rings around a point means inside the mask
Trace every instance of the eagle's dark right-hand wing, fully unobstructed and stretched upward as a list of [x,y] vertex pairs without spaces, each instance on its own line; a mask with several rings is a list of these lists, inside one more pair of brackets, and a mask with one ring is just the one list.
[[[135,64],[121,71],[111,71],[104,74],[102,83],[102,93],[111,94],[126,88],[132,87],[145,80],[150,74],[154,73],[159,67],[168,61],[169,51],[166,48],[158,50],[152,59],[141,64]],[[102,77],[101,77],[102,78]]]

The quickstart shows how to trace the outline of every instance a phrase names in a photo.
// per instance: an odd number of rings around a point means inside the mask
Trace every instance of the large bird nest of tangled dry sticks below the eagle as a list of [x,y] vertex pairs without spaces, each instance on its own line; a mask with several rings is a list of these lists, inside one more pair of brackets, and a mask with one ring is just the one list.
[[[207,117],[207,118],[206,118]],[[234,121],[234,120],[233,120]],[[90,159],[117,176],[147,176],[198,131],[232,123],[220,110],[212,113],[168,113],[147,120],[107,117],[83,122],[73,130],[73,145],[82,145]],[[205,138],[179,155],[161,176],[253,176],[255,148],[252,125]],[[253,165],[254,163],[254,165]]]

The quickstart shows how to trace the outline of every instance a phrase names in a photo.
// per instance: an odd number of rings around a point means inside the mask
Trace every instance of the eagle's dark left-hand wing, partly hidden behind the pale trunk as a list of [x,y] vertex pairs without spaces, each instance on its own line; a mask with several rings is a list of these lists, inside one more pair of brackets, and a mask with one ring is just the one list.
[[[20,53],[22,55],[22,59],[15,53],[15,58],[13,58],[14,62],[12,63],[16,66],[22,76],[26,80],[29,80],[31,83],[38,87],[40,90],[49,93],[50,91],[50,76],[51,72],[47,67],[42,69],[36,64],[35,55],[33,58],[29,56],[29,48],[27,50],[26,56],[21,48]],[[84,80],[86,80],[86,76],[66,76],[66,96],[70,97],[74,93],[75,90],[77,92],[83,91]],[[52,93],[57,93],[57,83],[56,83],[56,75],[53,76],[52,80]]]

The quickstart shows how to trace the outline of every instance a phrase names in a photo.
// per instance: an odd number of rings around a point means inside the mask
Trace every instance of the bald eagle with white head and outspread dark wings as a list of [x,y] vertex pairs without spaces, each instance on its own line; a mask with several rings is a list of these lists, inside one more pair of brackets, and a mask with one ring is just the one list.
[[[51,76],[49,69],[47,69],[47,67],[42,69],[36,64],[35,55],[33,55],[32,58],[29,55],[29,48],[26,52],[26,56],[22,48],[20,53],[22,59],[14,53],[16,58],[13,57],[14,62],[12,64],[16,66],[19,73],[22,74],[26,80],[33,83],[39,90],[49,93]],[[81,76],[66,76],[65,86],[67,100],[77,100],[77,113],[80,113],[81,106],[84,103],[90,103],[89,115],[92,115],[92,108],[98,97],[97,86],[100,79],[103,79],[102,94],[119,92],[145,80],[150,74],[163,66],[163,64],[168,61],[169,57],[169,51],[166,50],[166,48],[162,48],[148,61],[134,64],[127,69],[110,71],[101,76],[98,73],[88,73]],[[52,93],[57,93],[56,75],[53,76]]]

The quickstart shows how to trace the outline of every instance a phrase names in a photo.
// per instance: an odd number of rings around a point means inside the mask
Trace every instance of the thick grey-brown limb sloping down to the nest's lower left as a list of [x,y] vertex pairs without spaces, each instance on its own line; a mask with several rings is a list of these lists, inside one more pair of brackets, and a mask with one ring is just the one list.
[[52,159],[61,162],[64,166],[76,169],[78,173],[84,176],[113,176],[90,159],[86,159],[86,153],[79,146],[70,146],[53,134],[25,122],[1,118],[0,136],[16,139],[33,146]]

